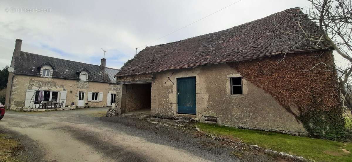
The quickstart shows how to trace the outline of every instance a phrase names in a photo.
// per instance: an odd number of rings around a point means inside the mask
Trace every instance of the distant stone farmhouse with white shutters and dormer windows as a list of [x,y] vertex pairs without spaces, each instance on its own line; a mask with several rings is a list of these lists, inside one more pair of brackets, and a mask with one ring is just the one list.
[[[115,104],[120,86],[113,76],[119,70],[105,67],[105,58],[100,66],[85,64],[23,52],[21,43],[16,40],[13,52],[10,67],[14,72],[8,77],[7,108],[29,111],[47,101],[78,108]],[[39,95],[43,95],[42,101]]]

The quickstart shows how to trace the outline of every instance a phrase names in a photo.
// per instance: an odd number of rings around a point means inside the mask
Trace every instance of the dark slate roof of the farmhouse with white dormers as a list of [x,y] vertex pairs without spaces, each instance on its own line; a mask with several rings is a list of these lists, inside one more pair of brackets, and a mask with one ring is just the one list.
[[76,61],[64,60],[54,57],[42,56],[39,54],[23,52],[13,56],[14,73],[40,76],[40,66],[50,63],[55,67],[53,78],[79,79],[77,71],[86,69],[89,71],[88,81],[116,83],[114,75],[119,72],[118,69],[106,67],[102,70],[99,65],[80,63]]

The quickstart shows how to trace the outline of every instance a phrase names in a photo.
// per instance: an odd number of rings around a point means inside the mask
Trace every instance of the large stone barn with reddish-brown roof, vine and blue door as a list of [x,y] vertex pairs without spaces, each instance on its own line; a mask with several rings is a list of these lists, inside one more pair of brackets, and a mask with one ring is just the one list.
[[[272,20],[279,28],[295,25],[300,12],[291,8],[227,30],[146,47],[115,75],[122,85],[117,111],[150,109],[159,117],[310,133],[319,123],[307,114],[338,112],[339,89],[337,73],[322,70],[335,66],[327,43],[317,46],[278,33],[272,25]],[[314,26],[303,28],[309,32]]]

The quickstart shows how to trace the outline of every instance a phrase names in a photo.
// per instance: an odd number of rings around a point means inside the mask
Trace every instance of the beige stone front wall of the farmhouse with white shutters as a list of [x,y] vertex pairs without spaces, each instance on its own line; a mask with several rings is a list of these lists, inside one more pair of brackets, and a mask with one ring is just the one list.
[[[15,74],[13,79],[10,106],[23,107],[26,98],[26,90],[48,90],[48,91],[67,91],[66,105],[74,102],[77,105],[78,93],[86,92],[84,102],[90,107],[107,106],[107,94],[121,92],[121,86],[116,84],[101,82],[85,82],[73,79],[46,78],[39,76],[25,76]],[[103,92],[103,101],[87,101],[88,92]],[[10,93],[10,92],[9,92]],[[8,95],[7,95],[8,96]],[[8,98],[8,97],[7,97]],[[8,106],[8,107],[10,107]]]

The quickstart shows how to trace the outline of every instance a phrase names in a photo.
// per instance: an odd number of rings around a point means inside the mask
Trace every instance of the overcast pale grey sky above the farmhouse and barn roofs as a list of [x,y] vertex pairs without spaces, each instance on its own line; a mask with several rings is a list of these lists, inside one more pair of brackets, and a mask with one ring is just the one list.
[[[238,0],[21,1],[0,0],[0,67],[21,51],[120,68],[145,45]],[[293,7],[306,0],[241,0],[148,46],[212,33]],[[47,9],[43,12],[14,9]],[[336,59],[336,58],[335,58]],[[337,58],[339,60],[339,58]]]

